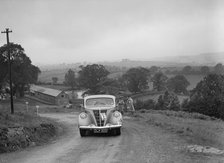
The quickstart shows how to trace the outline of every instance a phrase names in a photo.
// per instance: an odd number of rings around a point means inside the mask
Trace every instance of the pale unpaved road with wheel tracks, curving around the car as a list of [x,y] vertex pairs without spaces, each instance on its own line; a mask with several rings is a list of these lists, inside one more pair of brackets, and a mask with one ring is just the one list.
[[91,135],[81,138],[77,113],[42,114],[64,124],[53,142],[23,151],[0,155],[0,163],[160,163],[224,162],[221,156],[190,153],[180,136],[145,124],[139,118],[124,117],[120,136]]

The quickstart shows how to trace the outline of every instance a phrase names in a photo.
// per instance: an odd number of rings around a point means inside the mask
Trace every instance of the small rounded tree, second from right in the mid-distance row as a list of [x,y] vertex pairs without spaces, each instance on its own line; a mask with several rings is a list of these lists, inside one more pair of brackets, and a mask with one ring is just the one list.
[[166,81],[168,77],[164,75],[162,72],[156,73],[153,78],[153,88],[157,91],[162,91],[166,88]]

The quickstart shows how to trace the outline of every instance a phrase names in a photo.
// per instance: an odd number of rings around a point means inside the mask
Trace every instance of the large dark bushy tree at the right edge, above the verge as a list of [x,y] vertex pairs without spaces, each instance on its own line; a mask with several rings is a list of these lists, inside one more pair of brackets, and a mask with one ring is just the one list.
[[224,119],[224,76],[209,74],[192,90],[188,111]]

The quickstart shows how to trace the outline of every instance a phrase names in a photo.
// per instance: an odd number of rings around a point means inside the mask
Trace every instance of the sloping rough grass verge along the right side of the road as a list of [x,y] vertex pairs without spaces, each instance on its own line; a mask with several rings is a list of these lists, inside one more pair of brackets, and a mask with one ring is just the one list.
[[136,117],[150,125],[178,134],[190,144],[224,149],[224,122],[199,113],[140,110]]

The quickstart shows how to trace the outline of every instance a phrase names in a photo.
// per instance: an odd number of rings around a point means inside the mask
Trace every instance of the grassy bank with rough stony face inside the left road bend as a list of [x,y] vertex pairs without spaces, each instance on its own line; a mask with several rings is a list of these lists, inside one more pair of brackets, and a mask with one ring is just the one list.
[[51,119],[40,117],[36,112],[36,103],[32,105],[30,102],[27,110],[23,99],[14,102],[14,114],[10,114],[9,101],[0,103],[0,153],[41,145],[58,134],[61,126]]

